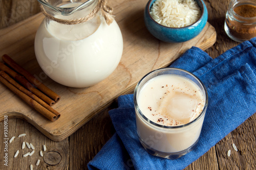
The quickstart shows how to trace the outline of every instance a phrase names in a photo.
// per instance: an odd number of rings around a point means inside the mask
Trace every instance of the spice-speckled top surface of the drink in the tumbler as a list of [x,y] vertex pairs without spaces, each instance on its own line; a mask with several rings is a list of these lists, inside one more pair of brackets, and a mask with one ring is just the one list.
[[180,126],[191,122],[201,113],[205,103],[195,83],[176,75],[151,79],[138,96],[142,113],[163,126]]

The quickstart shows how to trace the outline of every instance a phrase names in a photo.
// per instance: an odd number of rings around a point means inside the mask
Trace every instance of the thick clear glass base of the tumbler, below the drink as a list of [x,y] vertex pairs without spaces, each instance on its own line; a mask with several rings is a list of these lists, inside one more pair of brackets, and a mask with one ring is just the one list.
[[[140,139],[140,138],[139,138]],[[143,140],[140,139],[140,143],[143,145],[143,147],[145,148],[145,150],[154,156],[158,156],[158,157],[162,157],[162,158],[166,158],[166,159],[178,159],[180,157],[182,157],[183,155],[186,155],[187,153],[193,151],[196,148],[196,144],[198,142],[199,138],[197,139],[197,141],[191,145],[191,147],[180,151],[180,152],[174,152],[174,153],[165,153],[165,152],[160,152],[157,151],[153,148],[151,148],[150,146],[148,146]]]

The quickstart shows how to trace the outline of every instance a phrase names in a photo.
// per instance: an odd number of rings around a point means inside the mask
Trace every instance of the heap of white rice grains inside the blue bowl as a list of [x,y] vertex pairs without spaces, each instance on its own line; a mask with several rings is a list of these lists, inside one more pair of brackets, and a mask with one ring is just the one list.
[[163,26],[181,28],[196,22],[201,9],[195,0],[156,0],[150,15]]

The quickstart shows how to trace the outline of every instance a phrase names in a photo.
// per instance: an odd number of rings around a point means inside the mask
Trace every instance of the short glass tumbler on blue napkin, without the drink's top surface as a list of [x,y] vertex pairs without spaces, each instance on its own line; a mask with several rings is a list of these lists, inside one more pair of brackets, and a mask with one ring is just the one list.
[[[160,75],[178,75],[196,85],[202,92],[202,98],[205,101],[203,109],[195,119],[191,120],[191,122],[178,126],[163,126],[148,119],[143,113],[139,103],[142,101],[138,102],[139,96],[143,95],[141,94],[141,91],[148,81],[153,81],[153,78]],[[157,82],[157,80],[154,81]],[[155,96],[152,95],[152,100],[154,100],[154,98]],[[190,72],[178,68],[161,68],[148,73],[138,82],[134,91],[134,105],[137,133],[145,150],[154,156],[177,159],[192,151],[199,140],[205,112],[208,106],[208,95],[203,83]]]

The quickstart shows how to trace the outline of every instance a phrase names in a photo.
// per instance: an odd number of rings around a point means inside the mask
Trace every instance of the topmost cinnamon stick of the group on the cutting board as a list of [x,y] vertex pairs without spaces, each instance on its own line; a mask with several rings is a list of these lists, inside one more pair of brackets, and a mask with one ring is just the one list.
[[37,80],[33,75],[30,74],[27,70],[25,70],[23,67],[18,65],[14,60],[12,60],[8,55],[3,55],[2,57],[3,61],[6,62],[11,68],[13,68],[15,71],[17,71],[20,75],[23,75],[31,84],[36,86],[38,89],[40,89],[42,92],[44,92],[46,95],[48,95],[51,99],[53,99],[55,102],[57,102],[60,99],[60,96],[56,94],[54,91],[49,89],[47,86],[42,84],[39,80]]

